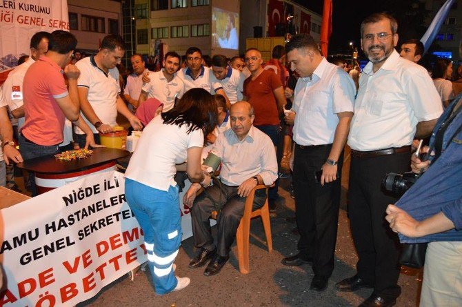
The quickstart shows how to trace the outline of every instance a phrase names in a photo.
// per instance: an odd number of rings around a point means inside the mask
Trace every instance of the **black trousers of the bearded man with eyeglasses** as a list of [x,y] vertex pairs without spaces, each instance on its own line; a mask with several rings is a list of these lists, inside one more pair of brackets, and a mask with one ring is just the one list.
[[358,252],[356,269],[361,279],[374,285],[376,293],[398,297],[399,240],[385,220],[388,204],[398,198],[381,187],[388,172],[403,173],[410,168],[410,152],[371,158],[352,157],[348,212],[354,245]]

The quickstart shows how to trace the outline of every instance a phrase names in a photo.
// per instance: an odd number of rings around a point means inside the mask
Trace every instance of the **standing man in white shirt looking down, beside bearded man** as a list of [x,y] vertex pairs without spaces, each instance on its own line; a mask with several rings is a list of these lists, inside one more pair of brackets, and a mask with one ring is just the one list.
[[310,289],[323,291],[334,270],[343,148],[356,89],[347,72],[321,55],[310,35],[295,35],[285,50],[290,69],[300,76],[294,91],[294,112],[286,117],[294,124],[293,183],[300,239],[299,253],[284,258],[282,264],[312,262]]

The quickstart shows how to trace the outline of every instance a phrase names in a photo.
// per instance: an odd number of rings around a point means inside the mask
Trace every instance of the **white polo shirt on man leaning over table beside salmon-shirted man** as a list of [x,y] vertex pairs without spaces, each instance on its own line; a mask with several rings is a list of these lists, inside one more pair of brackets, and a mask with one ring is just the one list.
[[[96,115],[102,123],[117,126],[117,95],[121,92],[119,70],[112,68],[106,74],[97,67],[94,57],[81,59],[75,63],[75,66],[80,70],[77,86],[88,88],[87,99]],[[93,123],[90,123],[83,113],[82,118],[88,123],[93,133],[98,133]],[[83,135],[83,131],[79,127],[75,128],[75,132]]]

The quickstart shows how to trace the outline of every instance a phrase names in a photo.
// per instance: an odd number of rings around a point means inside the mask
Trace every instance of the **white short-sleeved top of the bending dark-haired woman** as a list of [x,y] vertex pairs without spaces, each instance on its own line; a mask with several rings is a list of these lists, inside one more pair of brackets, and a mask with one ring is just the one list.
[[161,116],[154,117],[143,130],[125,177],[163,191],[176,186],[175,164],[186,160],[188,148],[203,146],[202,130],[188,134],[189,128],[188,125],[166,125]]

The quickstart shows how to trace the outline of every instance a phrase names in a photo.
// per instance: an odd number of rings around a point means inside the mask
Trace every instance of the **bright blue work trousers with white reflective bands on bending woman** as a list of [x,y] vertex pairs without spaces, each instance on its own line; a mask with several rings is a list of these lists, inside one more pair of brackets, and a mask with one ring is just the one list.
[[157,294],[172,291],[178,284],[172,265],[181,244],[179,188],[157,190],[125,179],[128,206],[143,229],[152,283]]

